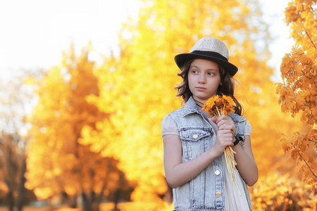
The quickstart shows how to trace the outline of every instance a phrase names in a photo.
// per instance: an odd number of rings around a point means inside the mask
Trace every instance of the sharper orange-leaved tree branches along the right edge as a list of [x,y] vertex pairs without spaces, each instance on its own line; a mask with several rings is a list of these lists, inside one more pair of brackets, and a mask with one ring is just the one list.
[[285,10],[295,46],[282,58],[282,82],[277,84],[282,112],[300,115],[308,132],[294,132],[283,136],[280,146],[290,158],[301,165],[303,179],[317,188],[317,1],[291,1]]

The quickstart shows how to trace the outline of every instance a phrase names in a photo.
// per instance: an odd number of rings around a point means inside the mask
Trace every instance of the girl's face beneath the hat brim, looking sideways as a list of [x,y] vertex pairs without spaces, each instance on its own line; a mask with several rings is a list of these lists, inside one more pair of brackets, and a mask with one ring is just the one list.
[[221,84],[218,64],[211,60],[195,59],[188,71],[188,84],[193,98],[206,103],[216,95]]

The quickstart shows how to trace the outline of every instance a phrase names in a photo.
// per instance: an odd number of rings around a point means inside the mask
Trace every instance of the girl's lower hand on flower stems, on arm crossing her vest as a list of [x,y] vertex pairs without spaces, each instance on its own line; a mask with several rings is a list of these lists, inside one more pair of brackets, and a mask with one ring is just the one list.
[[217,138],[213,144],[214,153],[219,157],[223,155],[227,146],[233,146],[233,134],[231,129],[219,129],[217,132]]

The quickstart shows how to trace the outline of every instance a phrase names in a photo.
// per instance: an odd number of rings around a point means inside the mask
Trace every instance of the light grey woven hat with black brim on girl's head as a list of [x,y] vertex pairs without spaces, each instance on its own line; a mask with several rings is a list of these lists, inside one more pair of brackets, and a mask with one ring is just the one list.
[[211,60],[223,66],[231,76],[237,73],[238,68],[229,63],[229,51],[227,46],[220,39],[214,37],[204,37],[199,39],[190,53],[181,53],[175,56],[175,63],[178,68],[188,61],[196,58]]

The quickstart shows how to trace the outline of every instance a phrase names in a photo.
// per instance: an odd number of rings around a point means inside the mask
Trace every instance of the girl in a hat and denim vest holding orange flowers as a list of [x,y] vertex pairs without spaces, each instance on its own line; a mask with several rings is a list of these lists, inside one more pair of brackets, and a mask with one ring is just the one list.
[[[176,87],[177,96],[182,96],[185,106],[162,122],[164,170],[173,188],[175,210],[252,210],[247,185],[253,186],[258,179],[251,151],[252,128],[241,116],[242,106],[233,96],[232,77],[237,67],[228,58],[223,41],[213,37],[204,37],[190,53],[175,56],[182,70],[178,75],[183,79]],[[216,94],[231,96],[235,113],[216,119],[201,110]],[[236,152],[237,186],[226,167],[227,146]]]

